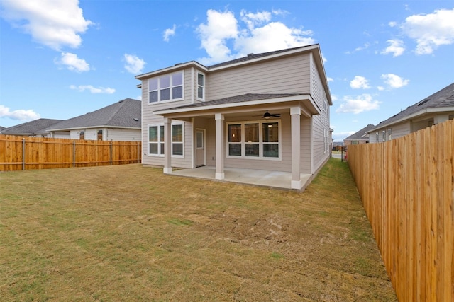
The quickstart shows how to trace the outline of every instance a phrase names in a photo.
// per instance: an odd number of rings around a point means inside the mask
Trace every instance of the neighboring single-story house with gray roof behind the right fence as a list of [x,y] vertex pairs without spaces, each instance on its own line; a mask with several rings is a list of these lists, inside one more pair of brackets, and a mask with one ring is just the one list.
[[389,141],[454,118],[454,83],[370,129],[370,143]]

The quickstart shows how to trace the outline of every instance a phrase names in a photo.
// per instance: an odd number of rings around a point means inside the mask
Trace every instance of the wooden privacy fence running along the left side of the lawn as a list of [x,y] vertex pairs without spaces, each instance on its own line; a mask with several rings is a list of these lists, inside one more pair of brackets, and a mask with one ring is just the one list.
[[140,163],[140,141],[0,135],[0,171]]

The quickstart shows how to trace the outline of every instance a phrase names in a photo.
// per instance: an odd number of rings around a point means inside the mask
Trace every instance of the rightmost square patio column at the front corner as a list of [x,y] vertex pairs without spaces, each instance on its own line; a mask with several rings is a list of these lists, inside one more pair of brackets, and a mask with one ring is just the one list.
[[301,109],[290,108],[292,116],[292,189],[301,189]]

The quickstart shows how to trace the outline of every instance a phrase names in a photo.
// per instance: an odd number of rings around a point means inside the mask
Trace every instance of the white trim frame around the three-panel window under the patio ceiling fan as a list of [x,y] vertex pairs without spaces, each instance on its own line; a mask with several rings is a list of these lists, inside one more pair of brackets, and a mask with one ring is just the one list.
[[[277,122],[277,127],[279,127],[279,156],[278,157],[264,157],[263,156],[263,134],[262,134],[262,124],[269,123],[269,122]],[[256,124],[258,123],[258,136],[259,136],[259,156],[245,156],[245,124]],[[231,124],[241,124],[241,142],[235,144],[241,144],[241,156],[231,156],[228,155],[228,126]],[[226,138],[226,158],[236,158],[236,159],[252,159],[258,161],[282,161],[282,123],[281,120],[251,120],[251,121],[238,121],[238,122],[227,122],[226,129],[225,129],[225,138]],[[265,143],[266,144],[266,143]]]

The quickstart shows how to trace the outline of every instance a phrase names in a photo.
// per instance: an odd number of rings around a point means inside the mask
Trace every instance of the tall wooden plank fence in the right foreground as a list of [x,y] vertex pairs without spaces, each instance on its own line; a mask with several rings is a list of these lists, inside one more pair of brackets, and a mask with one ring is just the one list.
[[454,121],[348,146],[348,165],[399,301],[454,301]]

